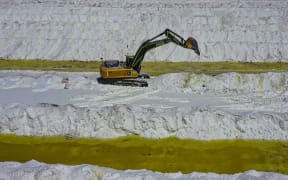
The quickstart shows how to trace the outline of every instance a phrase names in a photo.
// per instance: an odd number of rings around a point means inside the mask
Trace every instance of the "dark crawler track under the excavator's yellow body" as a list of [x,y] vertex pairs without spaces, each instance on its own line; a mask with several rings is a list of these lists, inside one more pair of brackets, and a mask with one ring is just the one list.
[[97,81],[100,84],[108,84],[108,85],[148,87],[148,83],[146,81],[138,79],[104,79],[99,77],[97,78]]

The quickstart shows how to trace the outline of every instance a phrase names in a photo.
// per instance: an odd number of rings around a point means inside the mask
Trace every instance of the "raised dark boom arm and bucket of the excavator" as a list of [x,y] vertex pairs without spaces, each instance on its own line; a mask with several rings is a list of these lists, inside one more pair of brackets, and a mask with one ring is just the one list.
[[[163,39],[159,39],[159,37],[165,35]],[[189,37],[186,41],[175,32],[171,31],[170,29],[166,29],[164,32],[160,33],[159,35],[146,40],[141,44],[141,46],[136,51],[135,56],[128,57],[126,59],[127,66],[132,67],[135,71],[140,73],[141,71],[141,63],[144,59],[145,54],[154,48],[159,46],[168,44],[173,42],[179,46],[184,48],[192,49],[198,55],[200,55],[200,51],[198,49],[198,43],[193,37]]]

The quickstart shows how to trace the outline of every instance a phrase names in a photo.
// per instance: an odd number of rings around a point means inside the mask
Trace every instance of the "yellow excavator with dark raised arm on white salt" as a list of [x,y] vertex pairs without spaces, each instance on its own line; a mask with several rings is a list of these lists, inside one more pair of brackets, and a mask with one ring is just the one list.
[[[159,39],[161,36],[165,36]],[[138,86],[146,87],[148,83],[138,78],[150,78],[147,74],[140,74],[141,63],[144,59],[146,52],[167,43],[173,42],[176,45],[184,48],[192,49],[197,55],[200,55],[198,43],[193,37],[188,37],[185,41],[181,36],[166,29],[164,32],[157,36],[146,40],[136,51],[134,56],[126,56],[126,62],[118,60],[103,61],[100,65],[101,77],[98,82],[101,84],[124,85],[124,86]]]

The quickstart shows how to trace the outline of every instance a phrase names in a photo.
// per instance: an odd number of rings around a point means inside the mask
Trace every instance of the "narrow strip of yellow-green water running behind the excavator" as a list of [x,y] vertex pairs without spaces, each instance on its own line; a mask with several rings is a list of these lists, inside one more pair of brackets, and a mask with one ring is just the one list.
[[[101,61],[53,61],[0,59],[0,70],[53,70],[53,71],[99,71]],[[204,73],[217,75],[225,72],[265,73],[287,72],[287,62],[146,62],[142,70],[152,76],[166,73]]]

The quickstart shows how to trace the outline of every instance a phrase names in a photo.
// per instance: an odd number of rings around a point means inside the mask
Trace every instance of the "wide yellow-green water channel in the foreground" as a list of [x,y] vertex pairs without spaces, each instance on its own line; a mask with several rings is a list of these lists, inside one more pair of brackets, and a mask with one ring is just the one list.
[[68,165],[161,172],[237,173],[246,170],[288,174],[288,141],[116,139],[0,135],[0,161],[31,159]]

